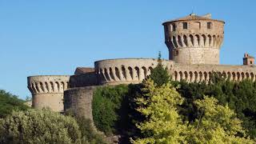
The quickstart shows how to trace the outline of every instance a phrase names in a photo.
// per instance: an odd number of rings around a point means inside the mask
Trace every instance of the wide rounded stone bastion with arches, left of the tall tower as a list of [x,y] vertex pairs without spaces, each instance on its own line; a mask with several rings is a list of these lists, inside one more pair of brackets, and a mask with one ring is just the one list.
[[[168,68],[173,63],[172,61],[162,61],[162,64]],[[157,65],[158,59],[152,58],[107,59],[95,62],[95,71],[100,85],[129,84],[142,82]]]

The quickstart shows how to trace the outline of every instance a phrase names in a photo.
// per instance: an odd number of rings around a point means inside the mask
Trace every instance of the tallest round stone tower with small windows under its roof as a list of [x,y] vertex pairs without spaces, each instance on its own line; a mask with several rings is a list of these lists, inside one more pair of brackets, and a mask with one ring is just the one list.
[[162,23],[169,59],[182,64],[219,64],[225,22],[190,14]]

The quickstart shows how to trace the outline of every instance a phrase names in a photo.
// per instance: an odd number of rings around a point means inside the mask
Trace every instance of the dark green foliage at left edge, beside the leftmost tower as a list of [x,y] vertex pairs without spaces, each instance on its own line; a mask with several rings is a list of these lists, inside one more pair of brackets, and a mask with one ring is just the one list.
[[5,118],[13,110],[27,110],[29,106],[26,106],[24,102],[17,96],[0,90],[0,118]]

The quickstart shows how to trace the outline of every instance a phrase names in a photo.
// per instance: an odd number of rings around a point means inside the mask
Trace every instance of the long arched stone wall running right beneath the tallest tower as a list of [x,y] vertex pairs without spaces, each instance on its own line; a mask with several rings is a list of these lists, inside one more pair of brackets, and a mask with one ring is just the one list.
[[212,72],[218,72],[231,81],[242,81],[243,79],[251,79],[255,81],[255,66],[230,66],[230,65],[184,65],[175,64],[174,69],[170,70],[173,80],[186,82],[208,82]]

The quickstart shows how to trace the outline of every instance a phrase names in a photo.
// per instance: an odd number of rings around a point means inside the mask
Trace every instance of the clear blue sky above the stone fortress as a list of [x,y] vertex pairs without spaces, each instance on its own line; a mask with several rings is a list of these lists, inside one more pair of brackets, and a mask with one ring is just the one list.
[[1,0],[0,89],[30,96],[26,77],[74,74],[105,58],[168,58],[162,22],[211,13],[224,20],[222,64],[256,56],[253,0]]

